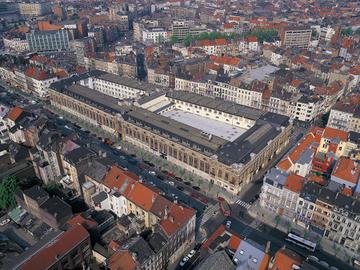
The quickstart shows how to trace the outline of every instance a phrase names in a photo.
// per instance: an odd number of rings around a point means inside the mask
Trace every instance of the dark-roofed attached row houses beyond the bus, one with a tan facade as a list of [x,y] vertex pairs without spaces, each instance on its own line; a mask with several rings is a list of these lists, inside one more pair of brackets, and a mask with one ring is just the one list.
[[360,201],[308,182],[297,203],[296,223],[358,253],[360,250]]

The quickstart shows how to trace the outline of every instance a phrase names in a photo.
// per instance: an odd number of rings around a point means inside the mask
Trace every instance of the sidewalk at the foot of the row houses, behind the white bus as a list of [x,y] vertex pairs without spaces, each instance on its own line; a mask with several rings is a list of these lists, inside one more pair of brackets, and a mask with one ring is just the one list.
[[295,231],[302,235],[304,238],[309,239],[313,242],[317,242],[318,247],[320,247],[321,250],[335,256],[336,258],[344,262],[349,263],[350,265],[352,264],[352,258],[359,257],[359,254],[355,254],[350,250],[345,249],[343,246],[333,241],[330,241],[325,237],[321,237],[320,235],[308,229],[305,229],[284,217],[280,217],[273,212],[261,208],[258,202],[252,205],[248,213],[253,218],[284,233]]

